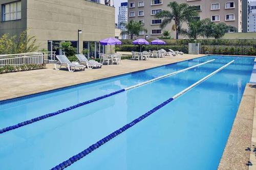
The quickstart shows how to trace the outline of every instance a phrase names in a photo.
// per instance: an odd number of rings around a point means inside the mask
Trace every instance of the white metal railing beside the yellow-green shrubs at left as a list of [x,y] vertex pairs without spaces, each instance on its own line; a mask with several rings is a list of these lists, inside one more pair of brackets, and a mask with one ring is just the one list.
[[5,65],[43,64],[44,54],[40,52],[0,55],[0,67]]

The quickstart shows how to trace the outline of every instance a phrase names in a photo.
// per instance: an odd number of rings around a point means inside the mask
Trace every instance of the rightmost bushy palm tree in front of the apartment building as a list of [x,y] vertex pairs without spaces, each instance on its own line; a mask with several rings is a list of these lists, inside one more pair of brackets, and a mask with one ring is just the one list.
[[228,26],[226,23],[218,23],[214,26],[214,31],[212,32],[212,36],[214,38],[221,38],[225,35],[225,33],[228,33],[229,31],[237,32],[237,28],[233,26]]

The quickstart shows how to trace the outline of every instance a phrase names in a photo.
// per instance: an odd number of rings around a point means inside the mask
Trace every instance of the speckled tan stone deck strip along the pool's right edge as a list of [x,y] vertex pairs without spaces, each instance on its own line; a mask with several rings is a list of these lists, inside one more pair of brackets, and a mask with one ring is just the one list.
[[[255,138],[254,144],[256,146],[256,112],[254,114],[254,111],[256,111],[255,93],[256,86],[254,87],[251,84],[247,84],[218,170],[256,169],[255,151],[253,151],[254,149],[251,147],[253,144],[251,142],[252,136]],[[255,125],[253,125],[253,120]],[[254,133],[252,133],[252,129],[255,131]],[[254,156],[251,156],[251,159],[255,161],[253,161],[252,165],[249,165],[248,161],[250,160],[250,155],[253,154]]]

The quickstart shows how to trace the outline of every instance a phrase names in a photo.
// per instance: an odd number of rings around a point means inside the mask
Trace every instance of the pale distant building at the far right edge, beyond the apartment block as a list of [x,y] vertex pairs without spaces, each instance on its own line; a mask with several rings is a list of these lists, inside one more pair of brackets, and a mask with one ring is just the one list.
[[256,0],[248,0],[247,4],[247,32],[256,32]]

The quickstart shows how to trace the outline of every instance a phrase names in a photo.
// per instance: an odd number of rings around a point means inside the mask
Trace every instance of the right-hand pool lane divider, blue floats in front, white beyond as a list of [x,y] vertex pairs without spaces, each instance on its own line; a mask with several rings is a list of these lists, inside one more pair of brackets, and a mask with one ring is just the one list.
[[139,122],[141,122],[147,116],[150,116],[151,114],[155,113],[157,110],[161,109],[162,107],[164,107],[168,103],[170,103],[170,102],[174,101],[175,99],[179,98],[179,96],[181,96],[185,92],[191,90],[192,88],[194,88],[195,86],[199,85],[203,81],[205,81],[205,80],[209,79],[210,77],[214,76],[215,74],[217,74],[219,71],[221,71],[222,69],[224,69],[225,67],[227,67],[228,65],[233,63],[234,61],[235,60],[230,61],[229,63],[227,63],[224,66],[220,67],[219,69],[217,69],[216,71],[212,72],[208,76],[204,77],[203,79],[199,80],[198,82],[194,83],[193,85],[191,85],[191,86],[187,87],[186,89],[182,90],[181,92],[177,93],[172,98],[170,98],[170,99],[166,100],[165,102],[161,103],[160,105],[158,105],[154,109],[152,109],[152,110],[146,112],[145,114],[141,115],[140,117],[134,119],[131,123],[124,125],[122,128],[120,128],[120,129],[116,130],[115,132],[111,133],[110,135],[102,138],[101,140],[99,140],[96,143],[92,144],[90,147],[88,147],[87,149],[83,150],[82,152],[80,152],[80,153],[70,157],[68,160],[66,160],[66,161],[56,165],[55,167],[51,168],[51,170],[61,170],[61,169],[65,169],[66,167],[72,165],[76,161],[80,160],[81,158],[87,156],[91,152],[93,152],[96,149],[98,149],[99,147],[101,147],[101,145],[105,144],[106,142],[108,142],[111,139],[115,138],[116,136],[118,136],[119,134],[123,133],[127,129],[130,129],[134,125],[138,124]]

